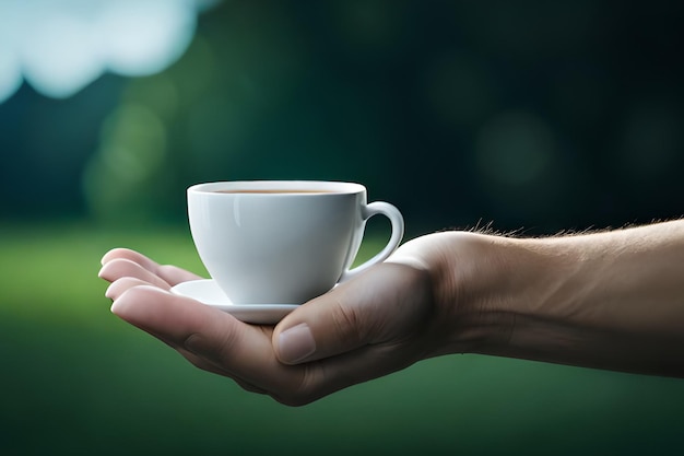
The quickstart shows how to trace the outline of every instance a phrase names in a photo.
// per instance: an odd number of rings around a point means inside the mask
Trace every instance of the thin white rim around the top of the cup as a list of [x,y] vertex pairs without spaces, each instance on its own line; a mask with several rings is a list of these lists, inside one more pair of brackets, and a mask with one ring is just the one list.
[[[361,184],[340,180],[217,180],[194,184],[188,187],[188,192],[215,194],[219,190],[284,190],[278,194],[252,194],[255,196],[305,196],[327,194],[361,194],[366,187]],[[287,190],[311,190],[302,194]],[[320,190],[320,191],[316,191]],[[231,194],[226,194],[231,195]]]

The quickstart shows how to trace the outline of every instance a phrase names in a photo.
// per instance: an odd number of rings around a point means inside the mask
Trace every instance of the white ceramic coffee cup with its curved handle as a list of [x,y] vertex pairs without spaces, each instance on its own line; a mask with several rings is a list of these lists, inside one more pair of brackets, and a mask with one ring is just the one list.
[[[385,260],[404,223],[387,202],[366,202],[359,184],[217,182],[188,188],[188,219],[200,259],[236,304],[303,304]],[[354,269],[366,221],[384,214],[391,236]]]

